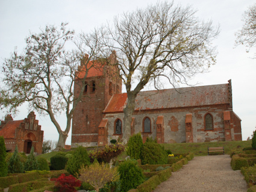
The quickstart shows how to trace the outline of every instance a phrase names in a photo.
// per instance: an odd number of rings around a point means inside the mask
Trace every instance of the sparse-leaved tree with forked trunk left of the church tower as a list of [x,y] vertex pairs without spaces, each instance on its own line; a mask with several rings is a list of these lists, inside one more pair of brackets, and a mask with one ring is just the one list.
[[[64,147],[70,131],[73,111],[84,97],[84,84],[88,70],[100,55],[99,33],[81,34],[83,44],[76,43],[80,51],[66,51],[66,43],[73,40],[74,32],[66,29],[67,23],[60,28],[48,25],[39,34],[30,34],[23,54],[15,51],[5,59],[2,70],[0,105],[8,113],[16,112],[17,107],[27,102],[30,110],[49,115],[58,131],[57,149]],[[84,60],[84,54],[87,54]],[[83,78],[76,81],[78,63],[83,62],[79,72]],[[73,97],[73,85],[80,85],[80,94]],[[66,128],[61,129],[56,116],[66,115]]]

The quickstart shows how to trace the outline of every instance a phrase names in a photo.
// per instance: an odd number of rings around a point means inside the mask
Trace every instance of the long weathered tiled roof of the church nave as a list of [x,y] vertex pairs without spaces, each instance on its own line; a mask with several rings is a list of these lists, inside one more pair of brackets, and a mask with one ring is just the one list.
[[[126,99],[126,93],[114,94],[104,113],[122,112],[126,105]],[[218,104],[229,104],[228,84],[142,91],[137,95],[135,110],[158,110]]]

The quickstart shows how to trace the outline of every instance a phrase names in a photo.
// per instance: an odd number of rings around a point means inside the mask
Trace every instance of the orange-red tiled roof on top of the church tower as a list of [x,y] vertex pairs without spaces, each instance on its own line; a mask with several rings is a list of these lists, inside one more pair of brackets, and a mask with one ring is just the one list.
[[[92,64],[94,67],[91,67]],[[103,67],[101,63],[96,63],[95,61],[89,61],[87,64],[87,69],[89,69],[87,73],[87,78],[92,77],[92,76],[102,76],[103,75]],[[84,78],[84,75],[86,75],[86,66],[81,67],[80,72],[78,73],[78,78]]]

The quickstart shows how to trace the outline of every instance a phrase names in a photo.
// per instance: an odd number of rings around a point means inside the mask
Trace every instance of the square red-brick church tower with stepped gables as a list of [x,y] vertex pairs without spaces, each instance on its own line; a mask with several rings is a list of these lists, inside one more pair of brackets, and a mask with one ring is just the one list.
[[[93,63],[94,67],[88,71],[84,84],[84,97],[73,113],[71,147],[77,147],[77,145],[98,146],[102,112],[113,94],[122,93],[122,79],[119,77],[117,66],[113,65],[116,62],[115,52],[108,57],[104,64],[89,61],[88,64]],[[83,67],[84,61],[81,61],[80,69]],[[74,97],[80,93],[81,79],[85,74],[82,71],[78,71],[78,78],[76,78],[74,85]],[[105,130],[104,135],[107,137],[107,130]]]

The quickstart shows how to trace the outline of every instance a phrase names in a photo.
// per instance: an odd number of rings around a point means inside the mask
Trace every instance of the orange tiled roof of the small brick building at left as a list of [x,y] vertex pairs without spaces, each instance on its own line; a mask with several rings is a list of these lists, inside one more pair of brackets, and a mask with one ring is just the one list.
[[11,120],[4,125],[4,128],[0,130],[0,135],[4,138],[14,138],[16,128],[20,126],[23,120]]

